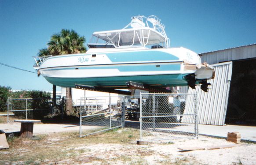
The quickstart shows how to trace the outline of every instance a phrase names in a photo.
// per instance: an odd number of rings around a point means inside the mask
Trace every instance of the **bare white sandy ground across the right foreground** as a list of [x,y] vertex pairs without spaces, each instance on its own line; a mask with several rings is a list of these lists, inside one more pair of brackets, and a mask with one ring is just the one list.
[[[256,165],[256,144],[236,144],[236,147],[198,150],[180,152],[179,147],[207,147],[216,145],[234,144],[225,139],[216,139],[200,136],[199,139],[176,139],[162,142],[151,142],[148,145],[137,145],[136,141],[131,144],[89,144],[79,147],[66,148],[87,151],[79,155],[79,159],[93,157],[94,159],[104,160],[107,164],[142,164],[142,165]],[[92,142],[93,143],[93,142]],[[119,160],[123,158],[123,160]],[[124,161],[132,158],[131,161]],[[113,161],[117,159],[116,161]],[[177,162],[181,160],[181,162]],[[82,165],[103,165],[106,162],[92,161],[83,162]],[[63,161],[63,164],[67,162]],[[62,164],[59,162],[59,164]]]

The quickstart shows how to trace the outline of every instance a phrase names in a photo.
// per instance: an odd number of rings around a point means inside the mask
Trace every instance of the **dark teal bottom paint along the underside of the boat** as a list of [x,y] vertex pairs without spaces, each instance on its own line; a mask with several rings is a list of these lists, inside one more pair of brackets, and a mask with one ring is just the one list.
[[60,87],[74,88],[75,84],[90,86],[125,86],[127,81],[135,81],[143,84],[160,84],[159,86],[185,86],[187,74],[147,75],[147,76],[122,76],[122,77],[94,77],[94,78],[56,78],[45,77],[51,84]]

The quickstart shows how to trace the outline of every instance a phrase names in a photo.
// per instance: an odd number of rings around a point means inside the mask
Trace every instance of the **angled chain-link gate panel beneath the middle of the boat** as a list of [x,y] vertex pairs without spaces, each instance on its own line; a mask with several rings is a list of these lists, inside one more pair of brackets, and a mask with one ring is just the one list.
[[80,103],[80,137],[122,126],[123,98],[119,96],[84,97]]

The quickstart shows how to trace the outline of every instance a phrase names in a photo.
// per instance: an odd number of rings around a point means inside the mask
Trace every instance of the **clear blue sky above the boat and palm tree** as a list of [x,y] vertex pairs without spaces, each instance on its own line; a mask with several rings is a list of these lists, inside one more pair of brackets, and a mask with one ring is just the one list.
[[[0,0],[0,63],[34,71],[32,56],[62,28],[89,41],[93,32],[123,28],[139,14],[157,15],[174,47],[203,53],[248,45],[256,42],[255,9],[256,0]],[[1,86],[51,91],[42,76],[0,70]]]

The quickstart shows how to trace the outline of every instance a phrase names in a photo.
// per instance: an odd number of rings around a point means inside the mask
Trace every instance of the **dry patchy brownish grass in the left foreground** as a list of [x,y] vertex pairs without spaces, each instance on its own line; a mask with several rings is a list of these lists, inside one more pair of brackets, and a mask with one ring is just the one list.
[[[1,151],[9,151],[10,154],[0,154],[0,160],[4,160],[0,161],[0,165],[4,165],[5,162],[37,165],[62,160],[69,160],[77,164],[80,161],[84,161],[84,159],[89,162],[100,161],[104,163],[106,160],[95,156],[82,158],[81,160],[81,155],[91,152],[90,149],[83,147],[96,144],[129,144],[139,138],[139,131],[114,129],[106,133],[83,138],[78,137],[78,135],[78,132],[38,135],[37,140],[9,137],[7,141],[10,149]],[[141,154],[145,154],[145,152],[141,151]],[[120,160],[122,159],[120,158]],[[65,162],[62,164],[65,164]],[[141,163],[136,160],[134,164],[140,165]]]

